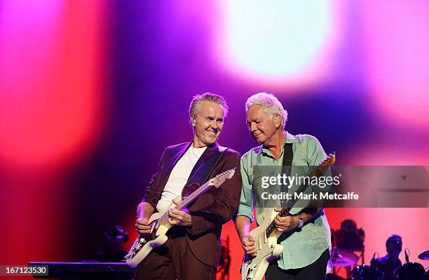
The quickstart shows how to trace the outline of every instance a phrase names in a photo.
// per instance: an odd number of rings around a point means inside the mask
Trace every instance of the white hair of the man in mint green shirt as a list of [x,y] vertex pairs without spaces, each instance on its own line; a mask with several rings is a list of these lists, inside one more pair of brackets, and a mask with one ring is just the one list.
[[264,108],[264,112],[268,116],[275,116],[280,114],[282,119],[282,126],[285,128],[287,121],[287,111],[283,109],[282,103],[271,93],[255,93],[254,95],[247,98],[246,101],[246,112],[250,107],[260,105]]

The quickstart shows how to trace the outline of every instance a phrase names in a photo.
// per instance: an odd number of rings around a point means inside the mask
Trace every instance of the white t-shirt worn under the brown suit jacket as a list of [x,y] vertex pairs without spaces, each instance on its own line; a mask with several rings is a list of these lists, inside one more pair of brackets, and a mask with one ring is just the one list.
[[172,199],[182,194],[183,187],[188,182],[189,175],[193,169],[193,166],[197,163],[200,156],[203,154],[207,147],[194,148],[193,145],[186,150],[177,164],[172,169],[170,177],[165,184],[161,199],[156,204],[158,212],[165,211],[172,204]]

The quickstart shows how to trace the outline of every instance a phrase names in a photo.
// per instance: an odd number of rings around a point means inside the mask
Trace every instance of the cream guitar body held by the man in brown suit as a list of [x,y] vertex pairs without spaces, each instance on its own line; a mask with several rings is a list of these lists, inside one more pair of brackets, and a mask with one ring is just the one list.
[[[180,200],[180,196],[177,196],[176,199]],[[130,251],[135,251],[136,253],[131,258],[125,260],[129,267],[137,267],[154,248],[165,244],[168,239],[168,229],[170,229],[172,225],[170,225],[168,220],[163,220],[162,217],[168,212],[168,209],[173,206],[175,206],[175,204],[172,203],[167,210],[151,215],[151,218],[149,218],[149,225],[153,227],[153,230],[150,234],[139,236],[137,240],[134,241],[134,244],[132,244]]]

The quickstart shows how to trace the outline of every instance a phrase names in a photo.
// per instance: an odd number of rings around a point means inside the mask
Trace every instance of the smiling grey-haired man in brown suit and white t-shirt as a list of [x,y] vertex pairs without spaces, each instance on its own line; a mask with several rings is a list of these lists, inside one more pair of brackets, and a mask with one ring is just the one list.
[[[212,93],[194,96],[189,107],[193,140],[165,149],[137,207],[137,232],[149,233],[150,216],[168,208],[171,201],[178,204],[174,198],[185,185],[205,181],[231,168],[238,168],[236,174],[219,189],[209,189],[188,209],[170,208],[169,222],[175,226],[169,230],[167,242],[139,264],[136,280],[214,279],[221,252],[222,225],[236,215],[241,191],[240,154],[217,144],[227,112],[222,96]],[[205,173],[210,172],[207,178],[197,179],[205,169]]]

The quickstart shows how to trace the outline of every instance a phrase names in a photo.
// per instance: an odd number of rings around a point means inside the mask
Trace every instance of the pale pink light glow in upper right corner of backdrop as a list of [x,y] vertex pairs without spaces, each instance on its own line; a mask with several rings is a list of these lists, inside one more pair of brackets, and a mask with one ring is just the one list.
[[362,1],[372,105],[402,124],[429,126],[429,4]]

